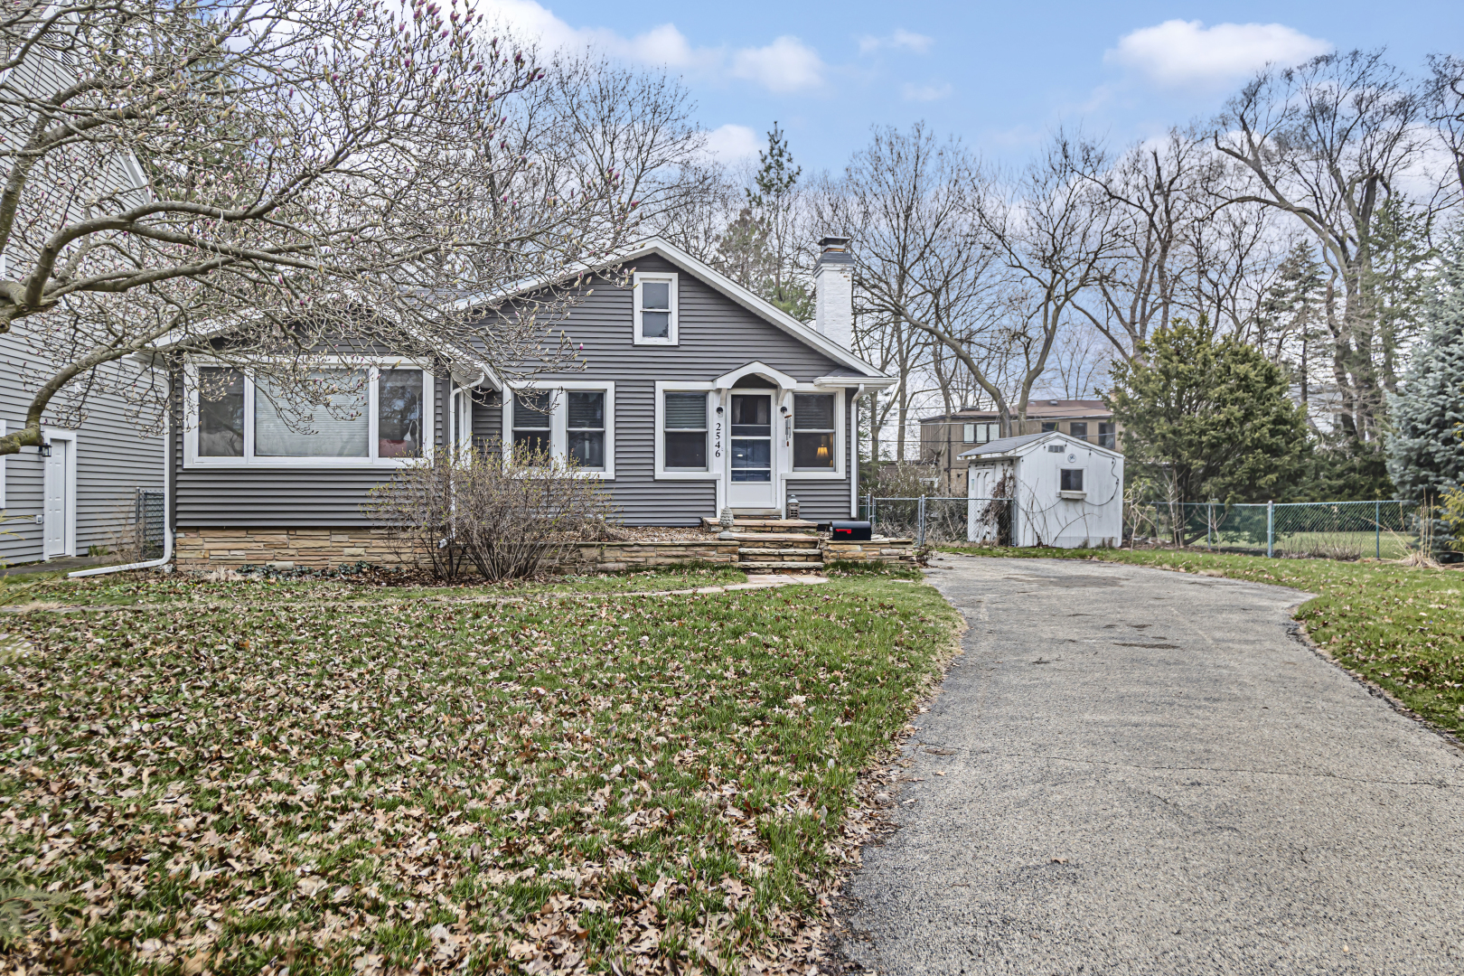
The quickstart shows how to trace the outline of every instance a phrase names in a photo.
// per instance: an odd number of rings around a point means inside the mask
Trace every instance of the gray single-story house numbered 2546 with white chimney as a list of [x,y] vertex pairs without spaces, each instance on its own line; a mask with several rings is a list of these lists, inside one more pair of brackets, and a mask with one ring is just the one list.
[[366,492],[430,445],[467,442],[574,457],[628,525],[698,525],[723,508],[782,515],[791,498],[804,518],[851,517],[859,399],[895,380],[851,351],[848,240],[821,241],[813,323],[662,240],[616,263],[627,281],[590,282],[562,326],[587,364],[572,375],[518,385],[382,357],[367,367],[363,416],[322,410],[296,433],[249,376],[201,402],[209,367],[190,367],[196,423],[180,424],[174,455],[179,563],[369,559],[379,540]]

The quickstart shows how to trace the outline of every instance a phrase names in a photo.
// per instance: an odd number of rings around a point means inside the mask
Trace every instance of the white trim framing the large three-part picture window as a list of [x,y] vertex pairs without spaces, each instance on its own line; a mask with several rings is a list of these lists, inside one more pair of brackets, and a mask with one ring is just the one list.
[[[187,416],[184,417],[183,433],[183,467],[186,468],[403,468],[417,461],[417,458],[256,458],[255,457],[255,378],[244,372],[244,457],[214,458],[198,454],[198,370],[212,367],[214,363],[190,361],[183,367],[187,395]],[[224,366],[223,363],[217,366]],[[227,366],[225,366],[227,369]],[[378,449],[378,394],[382,369],[420,369],[422,370],[422,455],[432,457],[436,443],[436,386],[429,367],[404,359],[375,357],[322,357],[321,369],[365,369],[370,379],[366,395],[366,446],[369,451]]]

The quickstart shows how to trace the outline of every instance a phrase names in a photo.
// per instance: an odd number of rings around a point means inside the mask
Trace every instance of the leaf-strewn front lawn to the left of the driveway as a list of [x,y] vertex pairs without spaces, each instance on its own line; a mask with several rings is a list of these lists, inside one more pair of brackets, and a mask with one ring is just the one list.
[[110,578],[44,593],[85,610],[7,607],[9,964],[807,967],[868,817],[856,774],[957,622],[877,574],[499,603],[343,587]]

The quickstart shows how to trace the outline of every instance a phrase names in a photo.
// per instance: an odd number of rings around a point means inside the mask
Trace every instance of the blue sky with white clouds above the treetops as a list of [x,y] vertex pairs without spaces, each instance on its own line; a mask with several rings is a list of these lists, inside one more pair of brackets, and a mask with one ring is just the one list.
[[927,120],[1020,162],[1058,124],[1113,142],[1215,111],[1266,60],[1385,45],[1420,70],[1464,54],[1464,3],[741,3],[605,6],[488,0],[549,47],[593,42],[668,66],[719,154],[754,152],[773,120],[805,171],[840,168],[873,124]]

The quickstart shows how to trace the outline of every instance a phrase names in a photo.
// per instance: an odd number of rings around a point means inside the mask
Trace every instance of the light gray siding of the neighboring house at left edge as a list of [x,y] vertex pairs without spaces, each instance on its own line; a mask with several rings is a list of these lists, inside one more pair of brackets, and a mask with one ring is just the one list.
[[[15,325],[16,332],[29,323]],[[37,360],[23,337],[0,335],[0,418],[6,433],[25,426],[38,378],[50,376],[51,364]],[[133,372],[127,364],[101,367],[110,375]],[[42,426],[63,429],[53,417],[42,416]],[[138,489],[163,489],[163,438],[141,433],[138,408],[110,392],[92,394],[86,416],[76,432],[76,549],[113,547],[130,531]],[[0,562],[25,563],[45,558],[44,528],[35,522],[45,495],[45,467],[35,448],[22,448],[0,459],[4,465],[4,534],[0,534]],[[19,517],[19,518],[16,518]]]

